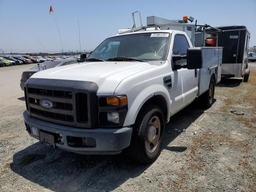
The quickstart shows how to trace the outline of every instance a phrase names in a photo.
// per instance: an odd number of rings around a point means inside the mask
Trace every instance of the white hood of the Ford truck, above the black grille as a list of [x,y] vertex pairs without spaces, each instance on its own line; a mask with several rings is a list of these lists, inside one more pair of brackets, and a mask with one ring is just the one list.
[[113,95],[124,78],[154,67],[147,62],[85,62],[43,70],[31,78],[95,82],[98,95]]

